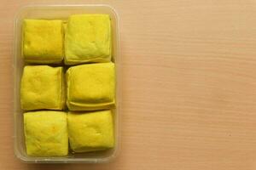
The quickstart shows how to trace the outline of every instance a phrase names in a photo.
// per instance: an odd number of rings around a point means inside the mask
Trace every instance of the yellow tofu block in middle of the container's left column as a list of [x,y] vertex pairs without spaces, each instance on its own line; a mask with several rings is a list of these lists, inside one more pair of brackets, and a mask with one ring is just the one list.
[[26,65],[20,84],[20,104],[26,111],[62,110],[66,97],[62,67]]

